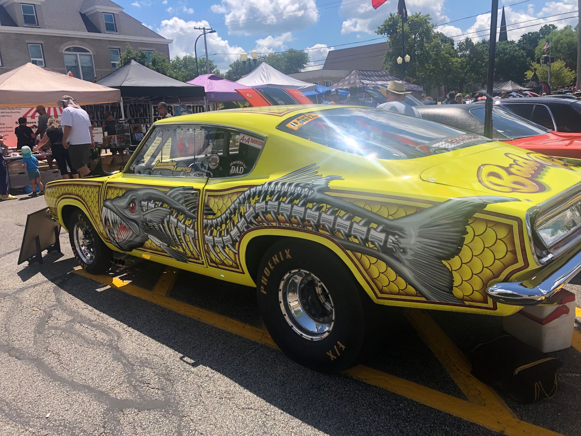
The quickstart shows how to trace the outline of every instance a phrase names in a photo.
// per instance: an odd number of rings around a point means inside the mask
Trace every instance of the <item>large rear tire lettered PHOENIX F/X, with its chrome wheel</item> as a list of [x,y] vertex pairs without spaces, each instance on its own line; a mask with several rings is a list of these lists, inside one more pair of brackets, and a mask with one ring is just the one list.
[[364,341],[364,311],[351,272],[334,253],[312,242],[275,242],[256,283],[268,333],[290,359],[322,373],[353,366]]

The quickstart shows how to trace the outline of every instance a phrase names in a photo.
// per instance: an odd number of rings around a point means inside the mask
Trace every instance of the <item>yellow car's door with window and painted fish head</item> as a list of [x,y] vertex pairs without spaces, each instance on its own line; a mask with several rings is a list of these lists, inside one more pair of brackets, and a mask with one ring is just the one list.
[[199,209],[215,133],[195,124],[153,126],[123,173],[105,185],[106,242],[167,265],[205,268]]

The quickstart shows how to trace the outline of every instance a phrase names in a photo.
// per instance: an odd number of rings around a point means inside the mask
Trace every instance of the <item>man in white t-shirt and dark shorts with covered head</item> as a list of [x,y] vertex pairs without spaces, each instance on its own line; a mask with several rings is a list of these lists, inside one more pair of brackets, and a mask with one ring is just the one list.
[[95,148],[89,115],[69,95],[64,95],[56,104],[63,108],[60,116],[63,146],[69,149],[71,164],[78,170],[80,176],[87,176],[91,148]]

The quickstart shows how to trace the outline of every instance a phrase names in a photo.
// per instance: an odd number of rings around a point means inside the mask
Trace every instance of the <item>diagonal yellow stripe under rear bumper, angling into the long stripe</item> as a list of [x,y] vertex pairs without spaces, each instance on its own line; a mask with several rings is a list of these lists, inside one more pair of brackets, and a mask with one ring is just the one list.
[[517,417],[492,388],[472,376],[472,365],[466,356],[425,310],[406,309],[404,313],[469,402]]

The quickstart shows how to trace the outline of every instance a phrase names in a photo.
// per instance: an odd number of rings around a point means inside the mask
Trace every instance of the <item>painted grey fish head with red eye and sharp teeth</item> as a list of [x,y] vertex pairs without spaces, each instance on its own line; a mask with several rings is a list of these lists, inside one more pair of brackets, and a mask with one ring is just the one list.
[[123,251],[139,248],[149,239],[140,225],[143,210],[139,195],[134,191],[105,200],[101,216],[109,240]]

